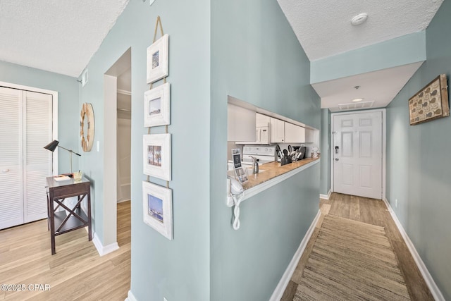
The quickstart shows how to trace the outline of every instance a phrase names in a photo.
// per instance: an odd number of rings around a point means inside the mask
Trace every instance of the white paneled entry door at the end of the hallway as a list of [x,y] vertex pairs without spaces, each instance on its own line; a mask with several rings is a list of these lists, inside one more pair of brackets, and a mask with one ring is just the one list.
[[333,116],[333,190],[382,198],[382,112]]

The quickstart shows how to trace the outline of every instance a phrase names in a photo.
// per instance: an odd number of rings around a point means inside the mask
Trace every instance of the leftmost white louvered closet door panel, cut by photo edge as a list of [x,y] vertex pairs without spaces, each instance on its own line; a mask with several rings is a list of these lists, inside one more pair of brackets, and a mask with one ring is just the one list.
[[0,87],[0,229],[23,223],[22,94]]

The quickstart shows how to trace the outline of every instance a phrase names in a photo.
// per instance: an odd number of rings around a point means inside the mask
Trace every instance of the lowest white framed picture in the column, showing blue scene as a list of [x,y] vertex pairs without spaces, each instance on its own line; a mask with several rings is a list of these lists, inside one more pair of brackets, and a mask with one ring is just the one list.
[[144,223],[172,240],[172,190],[154,183],[142,182]]

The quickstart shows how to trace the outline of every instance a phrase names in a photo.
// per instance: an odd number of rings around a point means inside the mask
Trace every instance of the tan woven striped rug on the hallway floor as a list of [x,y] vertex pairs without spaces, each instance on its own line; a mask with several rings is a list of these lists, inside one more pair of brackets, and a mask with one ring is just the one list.
[[328,214],[293,300],[410,298],[384,228]]

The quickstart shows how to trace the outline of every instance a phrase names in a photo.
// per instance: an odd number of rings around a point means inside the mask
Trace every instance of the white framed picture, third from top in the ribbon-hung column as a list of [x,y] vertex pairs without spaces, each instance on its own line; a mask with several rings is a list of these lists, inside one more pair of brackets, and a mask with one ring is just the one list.
[[171,134],[142,137],[143,165],[146,175],[171,180]]

